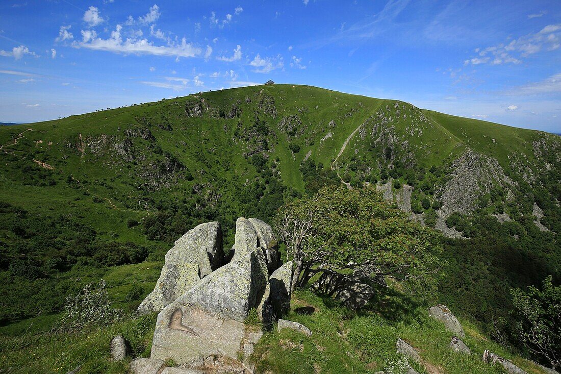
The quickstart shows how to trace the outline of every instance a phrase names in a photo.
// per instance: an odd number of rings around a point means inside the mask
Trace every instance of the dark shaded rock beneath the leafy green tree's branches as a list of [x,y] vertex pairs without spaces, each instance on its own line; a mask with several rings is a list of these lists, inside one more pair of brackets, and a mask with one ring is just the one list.
[[360,309],[374,295],[374,288],[357,277],[324,272],[311,285],[311,290],[328,295],[351,309]]

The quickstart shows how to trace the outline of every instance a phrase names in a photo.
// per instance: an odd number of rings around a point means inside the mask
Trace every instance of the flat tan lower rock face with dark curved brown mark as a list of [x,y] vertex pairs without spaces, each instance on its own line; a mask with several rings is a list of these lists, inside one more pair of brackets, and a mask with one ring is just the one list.
[[200,366],[205,357],[237,359],[245,325],[189,304],[173,302],[158,314],[150,357]]

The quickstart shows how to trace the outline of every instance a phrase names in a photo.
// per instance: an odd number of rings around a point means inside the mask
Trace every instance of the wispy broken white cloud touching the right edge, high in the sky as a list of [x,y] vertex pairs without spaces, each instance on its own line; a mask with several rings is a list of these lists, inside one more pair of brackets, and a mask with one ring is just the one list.
[[522,58],[541,51],[553,51],[561,45],[561,24],[548,25],[538,33],[532,33],[513,39],[508,43],[500,43],[486,48],[477,48],[475,53],[479,57],[473,57],[465,61],[465,65],[478,65],[480,63],[491,63],[491,65],[502,65],[504,63],[519,64]]

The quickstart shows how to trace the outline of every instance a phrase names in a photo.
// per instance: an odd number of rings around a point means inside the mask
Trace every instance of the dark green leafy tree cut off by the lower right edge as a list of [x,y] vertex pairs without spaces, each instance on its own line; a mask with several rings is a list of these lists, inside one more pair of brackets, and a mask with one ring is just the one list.
[[553,370],[561,367],[561,285],[548,276],[541,290],[511,290],[514,336],[530,352],[545,358]]

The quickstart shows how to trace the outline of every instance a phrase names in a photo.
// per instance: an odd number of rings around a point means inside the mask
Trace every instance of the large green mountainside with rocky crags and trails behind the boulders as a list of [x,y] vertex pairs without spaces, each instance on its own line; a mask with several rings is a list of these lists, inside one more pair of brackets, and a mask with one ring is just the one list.
[[436,296],[486,331],[509,289],[561,281],[560,139],[303,85],[2,126],[0,334],[48,330],[101,278],[134,311],[195,225],[222,222],[231,248],[237,217],[342,182],[448,236]]

